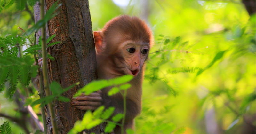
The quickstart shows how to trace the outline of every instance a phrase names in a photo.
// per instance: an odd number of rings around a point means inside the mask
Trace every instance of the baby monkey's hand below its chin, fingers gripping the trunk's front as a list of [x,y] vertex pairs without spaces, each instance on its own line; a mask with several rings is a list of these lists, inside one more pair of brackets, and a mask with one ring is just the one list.
[[81,96],[72,98],[72,105],[81,110],[95,110],[102,105],[101,91],[91,93],[90,95],[81,94]]

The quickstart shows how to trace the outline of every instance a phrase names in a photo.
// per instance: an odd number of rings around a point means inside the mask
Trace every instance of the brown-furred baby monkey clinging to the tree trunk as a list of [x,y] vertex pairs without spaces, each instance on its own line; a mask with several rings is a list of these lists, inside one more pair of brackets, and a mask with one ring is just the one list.
[[[134,118],[141,112],[142,81],[144,62],[148,59],[154,39],[151,29],[138,17],[118,16],[108,21],[101,31],[94,31],[98,79],[111,79],[132,75],[127,89],[125,130],[133,128]],[[115,107],[114,114],[123,113],[123,96],[117,93],[108,96],[110,88],[88,96],[82,94],[72,99],[72,105],[81,110],[95,110],[104,105]],[[120,126],[114,129],[121,133]],[[126,132],[124,132],[126,133]]]

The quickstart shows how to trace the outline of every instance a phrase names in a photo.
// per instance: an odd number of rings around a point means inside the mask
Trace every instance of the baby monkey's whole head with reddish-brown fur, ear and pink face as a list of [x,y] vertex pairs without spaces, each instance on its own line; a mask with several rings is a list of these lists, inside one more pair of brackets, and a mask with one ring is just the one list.
[[120,74],[137,76],[153,45],[148,25],[137,17],[116,17],[94,31],[97,54],[108,56]]

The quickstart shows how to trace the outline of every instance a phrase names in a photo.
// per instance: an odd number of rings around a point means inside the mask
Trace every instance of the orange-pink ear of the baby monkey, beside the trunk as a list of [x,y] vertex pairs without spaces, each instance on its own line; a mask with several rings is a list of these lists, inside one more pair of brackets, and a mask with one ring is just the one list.
[[95,42],[95,47],[98,53],[101,53],[102,50],[104,49],[103,46],[103,33],[101,31],[94,31],[94,42]]

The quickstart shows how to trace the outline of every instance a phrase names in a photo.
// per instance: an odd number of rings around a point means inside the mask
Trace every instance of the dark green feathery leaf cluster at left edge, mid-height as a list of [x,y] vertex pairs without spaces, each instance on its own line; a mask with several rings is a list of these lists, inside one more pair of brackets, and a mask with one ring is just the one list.
[[[47,42],[49,43],[55,36],[50,36]],[[14,37],[12,35],[8,35],[5,38],[0,37],[0,43],[2,47],[2,55],[0,55],[0,92],[4,90],[5,83],[8,82],[6,96],[12,98],[19,81],[24,87],[28,87],[31,77],[36,77],[37,67],[33,65],[34,59],[31,55],[41,55],[41,52],[38,52],[41,50],[41,43],[38,45],[27,44],[26,38],[22,36]],[[53,43],[57,44],[60,42]],[[18,54],[21,46],[30,47],[24,50],[23,53],[25,55],[20,57]]]

